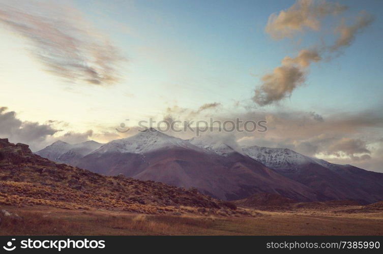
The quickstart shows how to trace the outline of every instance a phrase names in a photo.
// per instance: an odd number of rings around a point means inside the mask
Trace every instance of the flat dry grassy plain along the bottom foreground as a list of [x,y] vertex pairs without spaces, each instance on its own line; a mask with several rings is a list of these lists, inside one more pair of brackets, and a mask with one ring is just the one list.
[[[358,208],[358,207],[355,207]],[[0,235],[383,235],[383,212],[250,211],[251,216],[144,215],[2,206]]]

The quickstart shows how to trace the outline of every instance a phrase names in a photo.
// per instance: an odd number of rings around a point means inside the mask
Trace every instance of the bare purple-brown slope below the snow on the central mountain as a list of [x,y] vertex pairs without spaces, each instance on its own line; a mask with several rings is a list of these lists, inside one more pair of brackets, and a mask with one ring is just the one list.
[[[102,166],[101,166],[102,165]],[[300,201],[318,200],[307,186],[290,180],[248,156],[220,156],[183,147],[148,153],[92,153],[79,167],[106,175],[124,174],[176,186],[194,186],[204,194],[235,200],[267,192]]]

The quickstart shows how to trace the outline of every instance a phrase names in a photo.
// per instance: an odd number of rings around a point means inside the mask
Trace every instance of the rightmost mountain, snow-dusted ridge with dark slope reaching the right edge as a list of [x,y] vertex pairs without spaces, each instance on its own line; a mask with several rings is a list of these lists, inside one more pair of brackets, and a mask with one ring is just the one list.
[[286,148],[250,146],[243,150],[279,174],[312,188],[323,199],[352,199],[364,203],[382,198],[383,174],[329,163]]

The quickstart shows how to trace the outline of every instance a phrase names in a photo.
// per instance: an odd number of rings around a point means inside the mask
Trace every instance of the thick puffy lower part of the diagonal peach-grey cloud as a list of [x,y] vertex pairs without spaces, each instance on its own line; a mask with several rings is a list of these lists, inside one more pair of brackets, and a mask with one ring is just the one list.
[[315,49],[303,49],[294,58],[286,56],[281,66],[261,78],[262,84],[255,89],[253,101],[265,106],[289,97],[294,89],[304,84],[310,64],[320,60]]

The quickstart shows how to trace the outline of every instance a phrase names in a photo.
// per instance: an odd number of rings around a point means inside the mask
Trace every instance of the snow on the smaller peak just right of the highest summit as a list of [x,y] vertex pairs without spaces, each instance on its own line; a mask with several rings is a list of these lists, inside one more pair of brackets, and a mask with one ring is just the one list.
[[203,135],[200,137],[195,137],[189,139],[189,142],[206,151],[209,151],[211,153],[217,153],[222,156],[227,156],[233,152],[239,152],[243,154],[241,147],[238,147],[238,145],[235,142],[231,142],[230,140],[217,139],[216,136],[212,135]]

